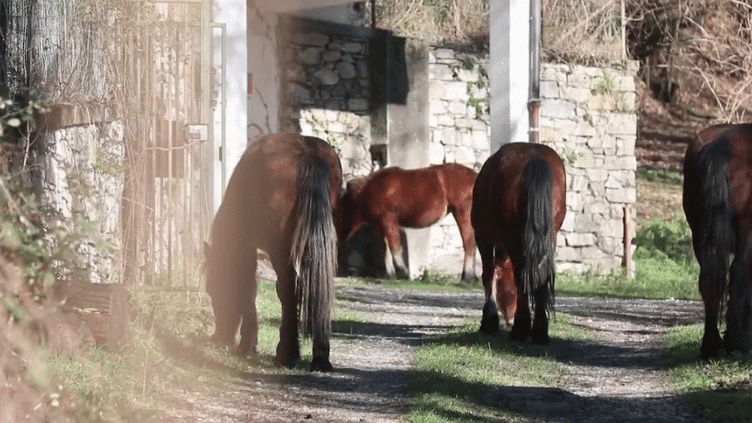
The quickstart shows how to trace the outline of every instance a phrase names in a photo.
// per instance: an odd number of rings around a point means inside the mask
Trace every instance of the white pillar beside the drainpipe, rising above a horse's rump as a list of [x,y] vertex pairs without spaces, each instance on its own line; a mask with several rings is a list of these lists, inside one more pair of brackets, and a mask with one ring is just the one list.
[[527,142],[530,0],[491,2],[491,153]]

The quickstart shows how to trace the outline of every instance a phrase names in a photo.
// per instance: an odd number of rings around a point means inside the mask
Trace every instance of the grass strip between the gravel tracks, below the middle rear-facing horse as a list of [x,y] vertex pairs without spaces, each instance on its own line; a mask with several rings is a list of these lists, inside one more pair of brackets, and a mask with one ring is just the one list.
[[407,420],[420,423],[510,421],[519,411],[499,405],[498,387],[554,388],[572,342],[584,339],[566,314],[551,321],[546,346],[509,341],[509,333],[487,336],[473,320],[454,331],[426,340],[415,352],[410,392],[413,410]]

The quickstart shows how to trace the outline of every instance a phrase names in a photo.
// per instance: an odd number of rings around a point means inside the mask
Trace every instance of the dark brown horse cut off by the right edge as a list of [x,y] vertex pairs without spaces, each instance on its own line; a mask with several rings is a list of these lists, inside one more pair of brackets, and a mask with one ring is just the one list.
[[[700,357],[749,351],[752,311],[752,124],[715,125],[684,156],[684,214],[700,263],[705,333]],[[729,269],[729,253],[734,260]],[[730,272],[730,275],[727,274]],[[718,319],[728,291],[726,333]]]

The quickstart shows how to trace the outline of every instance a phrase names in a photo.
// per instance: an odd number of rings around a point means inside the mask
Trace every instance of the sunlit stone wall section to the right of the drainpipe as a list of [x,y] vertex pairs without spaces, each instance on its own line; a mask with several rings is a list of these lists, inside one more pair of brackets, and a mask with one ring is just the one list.
[[637,201],[636,72],[636,62],[625,69],[541,69],[541,142],[567,164],[559,270],[602,273],[622,264],[624,210]]

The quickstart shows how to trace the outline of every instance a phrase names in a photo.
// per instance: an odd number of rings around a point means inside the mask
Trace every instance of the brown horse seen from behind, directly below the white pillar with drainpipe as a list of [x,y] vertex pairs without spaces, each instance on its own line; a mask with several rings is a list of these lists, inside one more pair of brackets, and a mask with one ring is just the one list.
[[499,330],[501,308],[507,323],[513,321],[510,338],[527,339],[532,300],[533,342],[549,342],[554,252],[566,213],[565,190],[564,163],[542,144],[506,144],[483,164],[472,207],[486,294],[481,332]]

